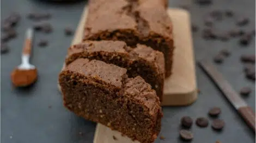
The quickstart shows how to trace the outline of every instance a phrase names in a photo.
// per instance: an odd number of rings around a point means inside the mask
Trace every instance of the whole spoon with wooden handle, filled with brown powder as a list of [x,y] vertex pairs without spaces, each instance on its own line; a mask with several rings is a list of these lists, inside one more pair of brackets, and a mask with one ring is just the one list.
[[31,55],[33,30],[29,28],[26,32],[26,39],[21,56],[21,64],[11,72],[11,81],[16,87],[26,87],[34,83],[37,79],[37,70],[29,63]]

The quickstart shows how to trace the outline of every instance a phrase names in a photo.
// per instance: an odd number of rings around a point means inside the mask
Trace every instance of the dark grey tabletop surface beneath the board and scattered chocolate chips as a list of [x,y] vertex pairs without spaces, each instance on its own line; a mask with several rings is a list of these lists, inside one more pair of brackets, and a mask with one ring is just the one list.
[[[172,7],[188,1],[172,1]],[[57,89],[57,77],[66,54],[66,49],[72,36],[66,37],[63,29],[70,25],[76,27],[85,2],[72,5],[44,4],[28,0],[2,0],[1,19],[7,17],[11,11],[18,11],[22,15],[17,27],[19,36],[9,42],[10,53],[1,55],[1,142],[93,142],[95,125],[93,122],[77,117],[67,111],[62,105],[62,97]],[[213,9],[229,8],[236,13],[251,18],[251,23],[245,27],[251,30],[255,27],[255,1],[254,0],[226,0],[215,1],[211,6],[191,5],[192,23],[203,25],[202,17],[205,12]],[[31,88],[15,89],[10,82],[10,72],[20,64],[20,53],[23,44],[23,34],[33,22],[27,21],[26,14],[31,11],[47,10],[53,14],[50,22],[53,24],[52,34],[35,34],[35,45],[32,63],[38,68],[39,79]],[[218,29],[227,30],[235,27],[229,20],[217,24]],[[49,41],[49,46],[40,48],[36,43],[40,38]],[[255,40],[246,48],[237,45],[237,38],[229,42],[204,41],[200,32],[193,35],[196,59],[203,57],[212,58],[222,48],[232,51],[231,56],[225,59],[224,64],[217,66],[235,90],[243,86],[250,86],[253,92],[245,101],[255,111],[255,83],[245,79],[242,64],[239,60],[241,54],[255,53]],[[184,115],[193,119],[207,116],[209,108],[219,106],[222,109],[220,119],[226,123],[221,133],[212,131],[211,127],[198,128],[193,125],[192,142],[255,142],[254,133],[246,126],[245,122],[236,113],[233,107],[225,100],[224,96],[213,85],[202,69],[197,69],[197,84],[202,91],[198,100],[188,107],[164,107],[162,131],[166,139],[157,139],[156,142],[182,142],[179,140],[179,120]],[[48,108],[52,106],[52,108]],[[212,119],[210,118],[210,121]],[[83,135],[78,133],[82,132]]]

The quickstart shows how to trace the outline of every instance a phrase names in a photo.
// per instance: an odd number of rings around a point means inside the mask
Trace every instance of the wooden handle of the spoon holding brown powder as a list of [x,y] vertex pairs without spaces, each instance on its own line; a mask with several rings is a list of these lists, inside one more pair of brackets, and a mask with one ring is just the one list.
[[28,28],[27,32],[26,32],[26,38],[25,38],[25,42],[24,42],[22,55],[30,55],[31,54],[32,36],[33,36],[33,30],[32,30],[32,28]]

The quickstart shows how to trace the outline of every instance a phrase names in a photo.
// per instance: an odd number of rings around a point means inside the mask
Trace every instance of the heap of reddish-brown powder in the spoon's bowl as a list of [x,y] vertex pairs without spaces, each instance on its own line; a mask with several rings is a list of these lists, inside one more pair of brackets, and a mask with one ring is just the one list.
[[29,70],[21,70],[15,69],[11,73],[11,81],[13,85],[16,87],[25,87],[34,83],[37,79],[37,70],[29,69]]

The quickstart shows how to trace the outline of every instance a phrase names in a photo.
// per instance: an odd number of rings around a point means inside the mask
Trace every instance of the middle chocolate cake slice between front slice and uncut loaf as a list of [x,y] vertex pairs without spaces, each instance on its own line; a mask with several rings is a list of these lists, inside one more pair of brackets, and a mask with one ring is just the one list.
[[86,41],[69,48],[66,65],[79,58],[100,60],[126,68],[129,77],[141,76],[149,83],[161,101],[164,57],[160,51],[141,44],[131,48],[123,41]]

